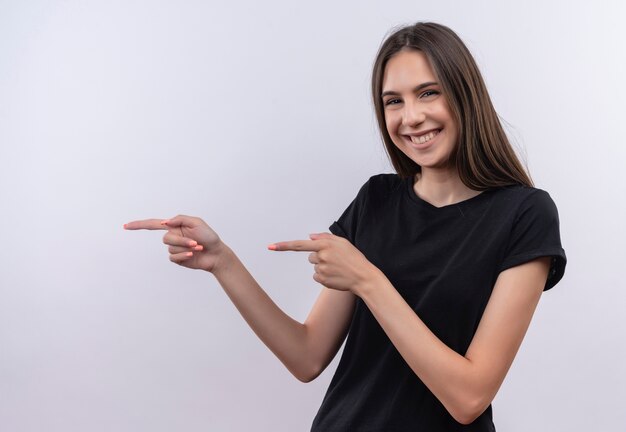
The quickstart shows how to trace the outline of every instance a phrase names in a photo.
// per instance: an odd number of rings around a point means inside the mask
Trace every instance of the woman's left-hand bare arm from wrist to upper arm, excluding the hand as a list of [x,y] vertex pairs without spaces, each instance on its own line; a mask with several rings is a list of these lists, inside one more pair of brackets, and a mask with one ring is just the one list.
[[351,292],[323,288],[304,324],[285,314],[224,246],[212,273],[241,316],[300,381],[315,379],[337,354],[354,311]]

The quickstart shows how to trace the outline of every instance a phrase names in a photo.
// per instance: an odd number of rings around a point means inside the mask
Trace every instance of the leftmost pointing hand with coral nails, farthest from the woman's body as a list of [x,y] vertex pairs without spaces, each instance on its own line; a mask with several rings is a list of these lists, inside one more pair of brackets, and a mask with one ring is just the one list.
[[213,272],[225,249],[215,231],[193,216],[138,220],[124,224],[124,229],[167,230],[163,243],[169,245],[170,261],[191,269]]

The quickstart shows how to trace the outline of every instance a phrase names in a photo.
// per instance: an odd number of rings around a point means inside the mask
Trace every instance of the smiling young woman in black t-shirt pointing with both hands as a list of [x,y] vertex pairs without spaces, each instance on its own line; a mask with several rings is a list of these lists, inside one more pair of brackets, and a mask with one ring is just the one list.
[[517,159],[470,52],[449,28],[389,36],[372,76],[396,174],[372,176],[307,251],[324,286],[304,323],[201,219],[166,229],[170,260],[211,272],[261,340],[308,382],[348,340],[312,430],[493,431],[491,401],[541,293],[563,276],[557,209]]

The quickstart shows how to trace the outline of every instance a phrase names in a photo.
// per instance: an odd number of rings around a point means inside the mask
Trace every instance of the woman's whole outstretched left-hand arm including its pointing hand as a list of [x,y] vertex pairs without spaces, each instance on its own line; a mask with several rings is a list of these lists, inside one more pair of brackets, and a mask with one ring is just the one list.
[[178,215],[124,225],[127,230],[167,230],[170,261],[205,270],[222,288],[252,330],[300,381],[317,377],[346,337],[355,295],[322,289],[304,324],[285,314],[263,291],[235,253],[202,219]]

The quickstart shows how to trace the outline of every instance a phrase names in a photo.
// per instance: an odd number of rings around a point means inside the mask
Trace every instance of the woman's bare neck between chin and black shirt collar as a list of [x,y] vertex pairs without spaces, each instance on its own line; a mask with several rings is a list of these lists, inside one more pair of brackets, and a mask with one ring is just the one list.
[[416,175],[413,189],[417,196],[435,207],[456,204],[480,193],[465,186],[456,168],[422,169]]

